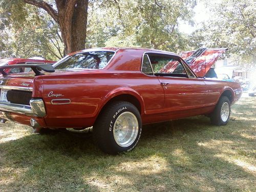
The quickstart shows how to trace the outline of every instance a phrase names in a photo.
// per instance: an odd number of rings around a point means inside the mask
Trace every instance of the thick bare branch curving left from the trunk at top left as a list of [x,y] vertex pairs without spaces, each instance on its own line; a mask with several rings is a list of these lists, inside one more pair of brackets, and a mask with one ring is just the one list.
[[58,12],[55,9],[53,9],[53,7],[50,4],[41,0],[23,0],[23,1],[27,4],[34,5],[36,7],[46,10],[49,13],[49,15],[51,15],[51,17],[55,20],[55,22],[58,23]]

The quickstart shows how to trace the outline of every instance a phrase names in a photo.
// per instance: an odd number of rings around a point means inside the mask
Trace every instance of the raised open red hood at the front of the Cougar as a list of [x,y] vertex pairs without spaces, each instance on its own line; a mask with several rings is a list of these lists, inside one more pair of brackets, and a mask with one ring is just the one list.
[[202,48],[195,51],[181,52],[180,55],[198,77],[204,77],[218,57],[220,57],[226,50],[227,48]]

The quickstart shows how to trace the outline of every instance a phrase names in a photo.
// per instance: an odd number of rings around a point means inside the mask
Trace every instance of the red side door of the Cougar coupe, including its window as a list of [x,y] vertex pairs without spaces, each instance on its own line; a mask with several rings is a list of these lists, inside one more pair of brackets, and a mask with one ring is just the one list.
[[147,53],[154,75],[164,89],[164,110],[173,114],[186,113],[188,109],[201,108],[206,103],[207,89],[203,79],[184,67],[176,55]]

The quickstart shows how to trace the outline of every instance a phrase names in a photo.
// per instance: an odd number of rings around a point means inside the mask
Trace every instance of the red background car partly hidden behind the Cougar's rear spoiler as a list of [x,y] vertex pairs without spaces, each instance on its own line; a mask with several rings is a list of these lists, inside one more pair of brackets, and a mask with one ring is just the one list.
[[[53,65],[56,61],[45,60],[42,58],[7,58],[0,59],[0,67],[8,66],[8,65],[17,65],[17,64],[51,64]],[[5,69],[5,72],[8,74],[12,73],[27,73],[30,72],[31,68],[13,68],[13,69]],[[1,74],[0,74],[1,75]]]

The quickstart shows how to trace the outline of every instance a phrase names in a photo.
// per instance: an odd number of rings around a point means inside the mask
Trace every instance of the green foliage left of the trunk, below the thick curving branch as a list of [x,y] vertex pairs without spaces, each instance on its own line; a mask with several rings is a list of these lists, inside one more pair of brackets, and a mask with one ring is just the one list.
[[46,11],[22,1],[2,2],[1,7],[0,57],[41,56],[56,60],[63,56],[58,25]]

